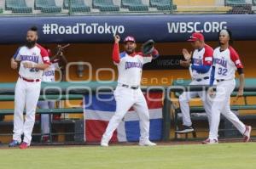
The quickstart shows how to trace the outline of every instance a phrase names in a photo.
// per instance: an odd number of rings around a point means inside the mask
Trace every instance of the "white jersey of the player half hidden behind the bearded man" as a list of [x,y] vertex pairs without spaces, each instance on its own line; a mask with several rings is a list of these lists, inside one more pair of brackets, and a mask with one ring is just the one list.
[[55,82],[55,70],[59,69],[59,64],[54,60],[47,70],[44,70],[42,82]]

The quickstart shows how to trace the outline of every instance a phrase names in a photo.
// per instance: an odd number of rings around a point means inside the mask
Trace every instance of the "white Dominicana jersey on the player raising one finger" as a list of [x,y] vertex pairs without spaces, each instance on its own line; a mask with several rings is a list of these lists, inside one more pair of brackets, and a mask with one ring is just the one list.
[[115,63],[118,66],[118,82],[130,86],[139,86],[142,79],[143,64],[151,62],[152,56],[142,56],[142,54],[119,54],[120,61]]

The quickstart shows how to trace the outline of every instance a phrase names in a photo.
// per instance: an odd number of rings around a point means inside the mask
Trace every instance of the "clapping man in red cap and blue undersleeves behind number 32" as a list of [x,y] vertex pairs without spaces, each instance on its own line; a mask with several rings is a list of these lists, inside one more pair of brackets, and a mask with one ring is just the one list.
[[[183,56],[186,61],[180,60],[184,67],[189,66],[192,82],[189,85],[208,85],[212,69],[213,49],[204,42],[205,38],[201,33],[193,33],[189,42],[195,48],[193,54],[189,54],[187,49],[183,49]],[[191,58],[192,57],[192,58]],[[200,97],[203,101],[207,113],[209,125],[211,121],[212,102],[208,99],[207,92],[184,92],[179,97],[180,109],[183,115],[183,127],[177,133],[193,132],[192,121],[189,114],[189,100]]]

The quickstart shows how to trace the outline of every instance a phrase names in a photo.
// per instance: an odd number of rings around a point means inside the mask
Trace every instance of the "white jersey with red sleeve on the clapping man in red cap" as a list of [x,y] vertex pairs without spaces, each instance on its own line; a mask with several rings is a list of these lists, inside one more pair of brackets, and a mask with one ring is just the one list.
[[[192,55],[192,65],[212,65],[213,49],[205,45],[204,48],[195,49]],[[206,73],[199,73],[196,70],[191,70],[191,76],[193,79],[201,79],[204,77],[209,77],[211,75],[211,70]]]

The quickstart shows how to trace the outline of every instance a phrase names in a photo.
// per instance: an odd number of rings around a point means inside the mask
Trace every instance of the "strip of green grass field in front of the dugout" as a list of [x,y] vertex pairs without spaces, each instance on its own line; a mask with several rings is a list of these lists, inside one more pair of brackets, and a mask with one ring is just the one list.
[[1,169],[255,169],[256,143],[0,149]]

